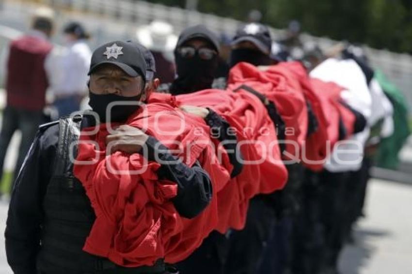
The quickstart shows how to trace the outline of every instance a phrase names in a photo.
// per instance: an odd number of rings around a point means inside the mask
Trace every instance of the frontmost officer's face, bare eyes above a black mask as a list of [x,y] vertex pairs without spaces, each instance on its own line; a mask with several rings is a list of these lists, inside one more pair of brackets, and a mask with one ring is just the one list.
[[146,99],[143,87],[141,76],[130,77],[116,66],[102,65],[90,79],[89,105],[100,122],[124,122]]

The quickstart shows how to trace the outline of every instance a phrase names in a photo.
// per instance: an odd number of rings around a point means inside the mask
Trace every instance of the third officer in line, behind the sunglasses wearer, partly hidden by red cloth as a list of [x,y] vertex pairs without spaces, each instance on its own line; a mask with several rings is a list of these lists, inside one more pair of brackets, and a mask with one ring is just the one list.
[[[285,61],[286,56],[272,48],[269,29],[259,23],[250,23],[238,29],[233,42],[230,66],[248,62],[266,66]],[[258,92],[258,91],[257,91]],[[316,130],[316,117],[308,105],[308,134]],[[267,106],[269,116],[280,129],[278,138],[285,137],[282,117]],[[271,114],[271,115],[270,115]],[[281,150],[282,150],[281,146]],[[246,228],[230,237],[226,263],[227,273],[284,273],[296,257],[293,247],[302,239],[303,172],[301,164],[287,165],[289,179],[281,191],[260,195],[251,200]],[[309,187],[310,188],[310,187]],[[298,215],[298,213],[301,213]],[[247,248],[249,246],[250,248]],[[300,264],[300,261],[296,262]]]

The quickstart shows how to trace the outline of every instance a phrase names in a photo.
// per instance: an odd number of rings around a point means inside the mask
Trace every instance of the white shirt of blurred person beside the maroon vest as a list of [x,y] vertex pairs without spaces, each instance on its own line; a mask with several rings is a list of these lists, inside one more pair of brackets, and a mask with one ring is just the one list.
[[55,96],[83,94],[87,91],[87,73],[92,52],[83,40],[76,41],[63,51],[53,52],[48,71],[53,71],[50,87]]

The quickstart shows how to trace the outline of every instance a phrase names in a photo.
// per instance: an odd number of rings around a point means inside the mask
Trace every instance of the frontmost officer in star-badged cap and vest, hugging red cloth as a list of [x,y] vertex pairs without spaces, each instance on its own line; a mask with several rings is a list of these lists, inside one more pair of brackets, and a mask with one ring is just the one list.
[[[161,259],[153,266],[124,268],[82,251],[95,213],[84,188],[73,176],[69,155],[76,155],[77,147],[70,152],[71,144],[79,138],[82,127],[98,122],[124,122],[136,110],[136,106],[113,107],[112,119],[106,121],[106,108],[111,102],[144,102],[147,95],[146,63],[133,43],[115,41],[98,47],[89,75],[89,104],[98,119],[85,113],[40,126],[12,193],[5,231],[8,263],[19,274],[167,273]],[[158,153],[159,159],[175,160],[153,137],[143,132],[129,133],[126,127],[108,138],[134,143],[119,145],[119,151],[139,152],[139,141],[149,151]],[[196,216],[211,197],[208,174],[197,165],[167,162],[174,164],[162,161],[158,176],[179,185],[173,200],[176,210],[187,218]]]

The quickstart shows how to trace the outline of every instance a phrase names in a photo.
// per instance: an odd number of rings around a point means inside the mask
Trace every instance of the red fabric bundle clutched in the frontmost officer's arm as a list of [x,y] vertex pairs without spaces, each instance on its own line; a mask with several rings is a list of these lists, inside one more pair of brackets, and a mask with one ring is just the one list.
[[[213,189],[224,188],[229,173],[218,163],[208,131],[198,131],[199,124],[184,118],[174,107],[157,103],[139,109],[127,124],[156,137],[189,166],[198,159]],[[217,196],[197,217],[180,217],[170,200],[176,195],[176,184],[158,179],[158,163],[147,162],[138,153],[106,155],[108,128],[100,125],[96,134],[92,130],[82,131],[74,166],[96,214],[83,249],[127,267],[152,265],[160,258],[172,263],[185,259],[217,226]]]

